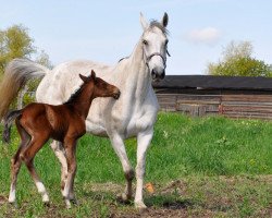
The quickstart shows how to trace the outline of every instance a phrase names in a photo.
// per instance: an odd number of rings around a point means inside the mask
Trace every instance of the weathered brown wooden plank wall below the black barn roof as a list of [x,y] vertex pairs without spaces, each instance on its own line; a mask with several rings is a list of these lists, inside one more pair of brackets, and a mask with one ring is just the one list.
[[272,120],[272,95],[157,94],[161,110]]

